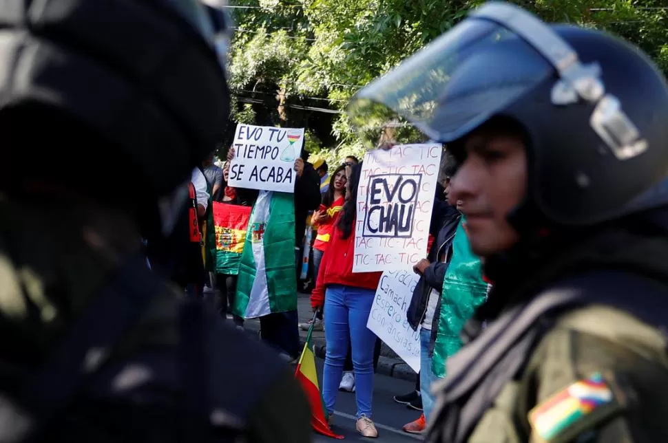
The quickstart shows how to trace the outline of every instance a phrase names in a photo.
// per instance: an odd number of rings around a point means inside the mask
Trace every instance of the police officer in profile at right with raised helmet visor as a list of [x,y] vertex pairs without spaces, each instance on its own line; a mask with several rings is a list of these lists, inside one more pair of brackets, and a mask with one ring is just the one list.
[[362,129],[378,103],[459,159],[450,199],[494,281],[427,441],[668,441],[668,87],[649,58],[488,3],[361,91]]

